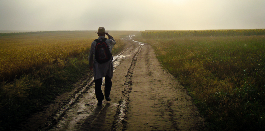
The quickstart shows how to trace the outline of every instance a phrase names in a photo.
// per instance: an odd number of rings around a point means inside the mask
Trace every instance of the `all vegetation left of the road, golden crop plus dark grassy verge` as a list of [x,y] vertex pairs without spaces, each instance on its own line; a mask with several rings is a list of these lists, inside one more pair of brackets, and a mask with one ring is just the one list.
[[[110,31],[120,39],[130,31]],[[95,31],[28,32],[0,35],[0,130],[10,130],[32,112],[70,91],[89,72],[88,53]]]

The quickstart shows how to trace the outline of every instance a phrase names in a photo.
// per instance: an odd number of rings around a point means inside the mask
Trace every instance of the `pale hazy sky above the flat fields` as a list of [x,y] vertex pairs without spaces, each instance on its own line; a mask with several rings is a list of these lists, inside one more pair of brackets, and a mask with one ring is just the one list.
[[0,30],[265,29],[265,0],[0,0]]

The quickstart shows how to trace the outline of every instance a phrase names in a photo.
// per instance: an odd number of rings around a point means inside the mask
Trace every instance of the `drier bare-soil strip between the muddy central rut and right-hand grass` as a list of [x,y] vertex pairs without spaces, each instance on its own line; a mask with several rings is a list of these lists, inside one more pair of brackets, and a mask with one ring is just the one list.
[[177,80],[143,45],[133,70],[126,130],[198,130],[204,119]]

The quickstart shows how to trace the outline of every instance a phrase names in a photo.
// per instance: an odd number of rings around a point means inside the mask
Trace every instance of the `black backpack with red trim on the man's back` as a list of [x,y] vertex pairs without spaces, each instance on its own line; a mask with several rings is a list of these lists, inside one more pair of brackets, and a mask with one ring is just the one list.
[[95,58],[96,61],[100,64],[108,62],[112,58],[112,54],[109,51],[108,45],[106,44],[107,38],[95,39],[97,42],[95,49]]

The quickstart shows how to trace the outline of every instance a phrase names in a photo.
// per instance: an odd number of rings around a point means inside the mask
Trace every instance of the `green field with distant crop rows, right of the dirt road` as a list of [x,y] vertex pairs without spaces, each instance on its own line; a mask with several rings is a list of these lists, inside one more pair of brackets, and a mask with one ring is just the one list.
[[143,31],[213,130],[265,129],[265,30]]

